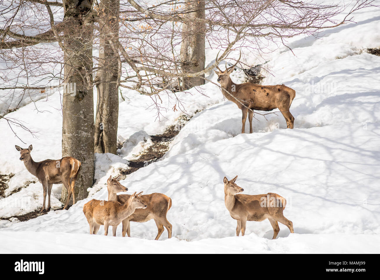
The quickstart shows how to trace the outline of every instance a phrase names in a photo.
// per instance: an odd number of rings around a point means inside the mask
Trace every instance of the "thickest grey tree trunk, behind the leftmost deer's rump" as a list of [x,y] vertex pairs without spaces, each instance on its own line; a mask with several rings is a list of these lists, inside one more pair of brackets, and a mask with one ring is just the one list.
[[[92,187],[94,177],[94,112],[93,89],[90,85],[93,25],[88,13],[90,4],[78,4],[78,0],[66,0],[63,3],[65,18],[72,18],[73,24],[64,30],[63,40],[65,86],[62,100],[62,156],[75,157],[82,163],[75,183],[75,198],[78,201],[88,196],[87,188]],[[66,199],[67,190],[62,188],[61,202]]]

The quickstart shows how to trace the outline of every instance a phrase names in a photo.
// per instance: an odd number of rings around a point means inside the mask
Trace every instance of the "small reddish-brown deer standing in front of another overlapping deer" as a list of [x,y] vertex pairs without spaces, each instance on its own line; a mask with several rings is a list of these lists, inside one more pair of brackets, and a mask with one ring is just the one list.
[[116,236],[117,226],[136,208],[146,208],[141,199],[141,193],[132,194],[124,204],[116,201],[92,199],[83,206],[83,213],[90,225],[90,234],[97,234],[101,224],[104,225],[104,235],[108,235],[108,227],[112,226],[112,234]]

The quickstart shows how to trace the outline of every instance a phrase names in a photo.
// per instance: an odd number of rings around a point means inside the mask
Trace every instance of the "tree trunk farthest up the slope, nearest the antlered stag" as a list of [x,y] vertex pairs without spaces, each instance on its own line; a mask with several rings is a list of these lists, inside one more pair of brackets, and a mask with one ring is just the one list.
[[[189,18],[205,18],[204,1],[192,1],[187,3],[188,9],[193,12],[188,13]],[[192,23],[182,25],[182,45],[181,45],[181,61],[182,70],[184,72],[200,72],[204,70],[204,62],[206,56],[205,48],[205,27],[202,24]],[[193,86],[204,84],[204,75],[198,77],[183,78],[183,89],[189,89]]]

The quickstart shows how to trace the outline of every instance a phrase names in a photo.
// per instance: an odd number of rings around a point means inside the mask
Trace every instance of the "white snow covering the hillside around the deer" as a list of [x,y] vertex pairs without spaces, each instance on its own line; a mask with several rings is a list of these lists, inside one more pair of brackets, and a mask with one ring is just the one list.
[[[380,249],[380,57],[366,48],[380,48],[379,8],[360,10],[356,24],[326,30],[322,40],[294,38],[290,46],[267,54],[263,84],[285,84],[296,90],[290,111],[294,129],[285,129],[282,115],[253,121],[252,134],[240,134],[241,111],[207,83],[177,96],[193,118],[182,128],[164,159],[120,181],[132,193],[162,192],[173,201],[166,230],[153,240],[153,220],[131,223],[132,238],[89,235],[82,212],[90,199],[107,199],[106,178],[127,168],[128,159],[149,143],[147,135],[177,124],[183,114],[173,111],[173,100],[163,99],[168,110],[157,120],[149,96],[123,91],[120,100],[119,139],[129,140],[120,156],[95,155],[96,182],[90,196],[67,210],[51,211],[26,222],[0,221],[2,253],[377,253]],[[208,61],[215,50],[206,52]],[[250,64],[256,58],[244,53]],[[238,55],[238,53],[237,53]],[[221,68],[224,66],[221,64]],[[215,82],[215,75],[209,74]],[[231,75],[236,82],[242,72]],[[205,95],[198,91],[202,90]],[[36,110],[38,108],[38,111]],[[27,121],[38,139],[22,129],[14,137],[0,121],[3,148],[0,173],[15,173],[10,188],[35,178],[25,172],[14,145],[33,144],[33,159],[61,156],[59,92],[7,117]],[[197,113],[195,113],[198,111]],[[246,131],[249,127],[248,121]],[[276,240],[268,220],[247,222],[244,237],[236,237],[236,221],[224,205],[223,177],[238,175],[236,183],[246,194],[276,192],[287,199],[284,215],[293,222],[294,234],[280,224]],[[17,180],[16,180],[17,179]],[[54,203],[60,187],[53,187]],[[0,199],[0,216],[19,215],[41,203],[42,187],[27,188]],[[22,205],[24,208],[20,207]],[[54,206],[54,205],[53,205]],[[33,242],[31,242],[33,240]],[[163,240],[163,241],[161,241]],[[75,246],[73,246],[75,245]]]

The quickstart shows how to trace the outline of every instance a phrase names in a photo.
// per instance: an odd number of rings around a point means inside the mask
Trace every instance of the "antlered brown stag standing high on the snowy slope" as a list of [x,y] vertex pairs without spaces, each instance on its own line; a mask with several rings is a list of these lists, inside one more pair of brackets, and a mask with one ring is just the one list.
[[[239,59],[240,57],[241,53]],[[293,128],[294,117],[291,115],[289,108],[291,102],[296,96],[296,91],[283,84],[276,86],[262,86],[260,84],[252,83],[235,84],[231,80],[230,74],[233,72],[235,66],[239,62],[239,59],[237,59],[236,64],[231,67],[227,68],[226,65],[226,70],[224,71],[220,70],[218,66],[216,68],[219,72],[214,71],[218,75],[218,83],[220,83],[220,86],[225,89],[222,89],[222,94],[224,97],[236,103],[237,107],[242,111],[243,127],[241,129],[241,133],[244,133],[245,131],[245,120],[247,119],[247,113],[249,120],[249,133],[252,133],[253,110],[271,111],[278,108],[286,120],[287,128]],[[218,60],[218,57],[216,60]]]

